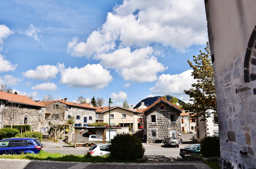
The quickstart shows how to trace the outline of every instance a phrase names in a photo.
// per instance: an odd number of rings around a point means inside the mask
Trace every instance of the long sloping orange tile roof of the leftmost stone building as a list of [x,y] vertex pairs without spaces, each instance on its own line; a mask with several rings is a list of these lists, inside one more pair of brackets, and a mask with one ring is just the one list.
[[15,102],[15,103],[21,103],[21,104],[28,104],[28,105],[32,105],[32,106],[45,107],[45,106],[29,99],[26,96],[22,96],[22,95],[18,95],[18,94],[0,92],[0,99],[8,100],[9,102]]

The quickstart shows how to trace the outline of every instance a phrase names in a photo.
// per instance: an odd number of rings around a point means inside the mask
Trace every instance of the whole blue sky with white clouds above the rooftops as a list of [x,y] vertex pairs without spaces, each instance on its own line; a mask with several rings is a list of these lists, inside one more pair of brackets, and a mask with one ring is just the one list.
[[112,97],[117,106],[167,92],[189,100],[187,60],[208,41],[202,0],[0,4],[0,84],[18,94]]

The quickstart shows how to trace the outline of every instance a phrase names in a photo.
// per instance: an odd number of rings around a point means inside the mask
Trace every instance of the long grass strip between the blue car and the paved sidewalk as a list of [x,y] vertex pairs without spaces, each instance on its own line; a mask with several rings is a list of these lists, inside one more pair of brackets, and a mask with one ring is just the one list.
[[136,162],[132,160],[120,160],[113,159],[110,155],[106,156],[90,156],[85,155],[73,155],[73,154],[61,154],[61,153],[48,153],[43,150],[39,154],[20,154],[20,155],[0,155],[0,158],[12,158],[12,159],[27,159],[27,160],[50,160],[50,161],[70,161],[70,162]]

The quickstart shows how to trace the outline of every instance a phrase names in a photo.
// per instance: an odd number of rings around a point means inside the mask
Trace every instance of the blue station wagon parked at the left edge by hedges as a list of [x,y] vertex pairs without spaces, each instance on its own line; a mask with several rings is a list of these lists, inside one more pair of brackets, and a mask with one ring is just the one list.
[[2,154],[37,154],[43,149],[38,138],[6,138],[0,141],[0,155]]

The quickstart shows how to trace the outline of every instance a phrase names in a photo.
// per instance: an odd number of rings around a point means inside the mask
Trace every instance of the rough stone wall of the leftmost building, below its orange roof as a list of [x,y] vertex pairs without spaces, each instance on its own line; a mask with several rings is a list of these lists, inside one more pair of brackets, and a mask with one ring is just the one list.
[[[6,114],[11,113],[14,106],[8,103],[1,107],[4,109],[3,125],[11,125],[11,120],[6,117]],[[31,126],[32,131],[40,131],[41,126],[45,125],[45,107],[20,104],[19,108],[16,109],[17,113],[12,125],[24,125],[25,117],[27,117],[27,124]],[[0,116],[0,121],[2,121],[2,115]]]

